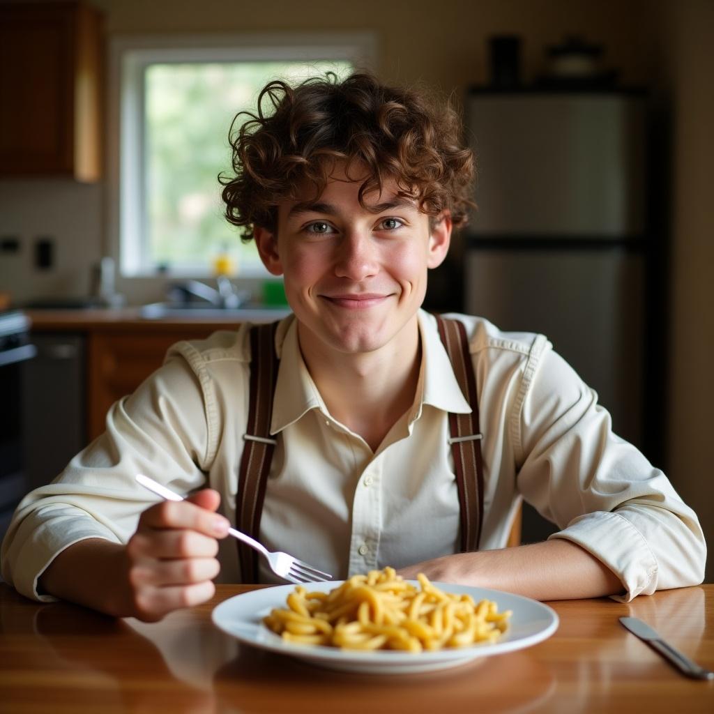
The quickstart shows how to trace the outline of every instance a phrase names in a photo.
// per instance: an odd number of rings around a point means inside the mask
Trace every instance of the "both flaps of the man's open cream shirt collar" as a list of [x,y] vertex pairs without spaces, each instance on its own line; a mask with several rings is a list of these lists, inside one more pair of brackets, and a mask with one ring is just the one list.
[[[439,337],[436,319],[420,310],[421,368],[416,396],[408,421],[421,416],[424,404],[446,412],[471,413],[453,373],[451,361]],[[294,317],[283,321],[276,334],[276,350],[280,357],[278,381],[273,401],[271,434],[282,431],[298,421],[311,409],[328,414],[327,407],[313,382],[298,344],[298,323]]]

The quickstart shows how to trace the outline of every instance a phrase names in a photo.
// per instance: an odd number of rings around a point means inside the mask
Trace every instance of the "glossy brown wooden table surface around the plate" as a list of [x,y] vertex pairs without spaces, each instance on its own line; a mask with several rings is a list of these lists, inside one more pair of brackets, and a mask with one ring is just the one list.
[[618,622],[642,618],[714,669],[714,585],[628,604],[548,603],[560,627],[543,643],[441,673],[385,676],[239,645],[213,626],[211,610],[250,589],[218,585],[211,602],[146,624],[38,605],[0,584],[0,712],[714,712],[714,682],[683,677]]

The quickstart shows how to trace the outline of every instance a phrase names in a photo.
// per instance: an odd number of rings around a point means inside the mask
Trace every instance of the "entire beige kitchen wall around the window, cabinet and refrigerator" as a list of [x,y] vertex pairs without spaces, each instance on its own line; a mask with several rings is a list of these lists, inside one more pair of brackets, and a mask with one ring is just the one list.
[[[608,66],[627,84],[645,84],[671,110],[673,182],[668,258],[668,471],[698,508],[714,542],[714,485],[706,445],[714,426],[710,355],[714,353],[714,3],[710,0],[94,0],[110,35],[140,33],[356,31],[378,38],[377,71],[399,82],[423,80],[454,92],[486,81],[486,40],[523,36],[526,79],[538,74],[543,46],[568,34],[603,43]],[[665,112],[667,114],[667,112]],[[666,198],[666,196],[665,196]],[[18,256],[0,256],[0,289],[18,298],[81,295],[91,263],[108,250],[104,186],[66,181],[0,182],[0,236],[23,241]],[[667,211],[665,211],[667,213]],[[51,273],[31,264],[36,236],[52,235]],[[161,297],[158,285],[144,286]],[[663,391],[663,396],[667,391]],[[710,567],[708,580],[714,580]]]

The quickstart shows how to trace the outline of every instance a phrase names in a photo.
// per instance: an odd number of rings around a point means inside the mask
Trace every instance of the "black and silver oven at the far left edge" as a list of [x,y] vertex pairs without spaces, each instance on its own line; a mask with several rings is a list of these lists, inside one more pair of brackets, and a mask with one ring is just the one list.
[[0,538],[25,495],[22,370],[34,358],[30,321],[21,311],[0,312]]

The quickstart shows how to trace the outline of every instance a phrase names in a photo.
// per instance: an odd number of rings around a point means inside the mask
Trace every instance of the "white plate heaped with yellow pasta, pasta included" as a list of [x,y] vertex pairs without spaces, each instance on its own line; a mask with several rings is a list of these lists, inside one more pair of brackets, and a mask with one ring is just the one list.
[[252,590],[213,609],[243,643],[323,667],[418,673],[513,652],[550,637],[558,615],[521,595],[403,580],[393,568],[330,583]]

